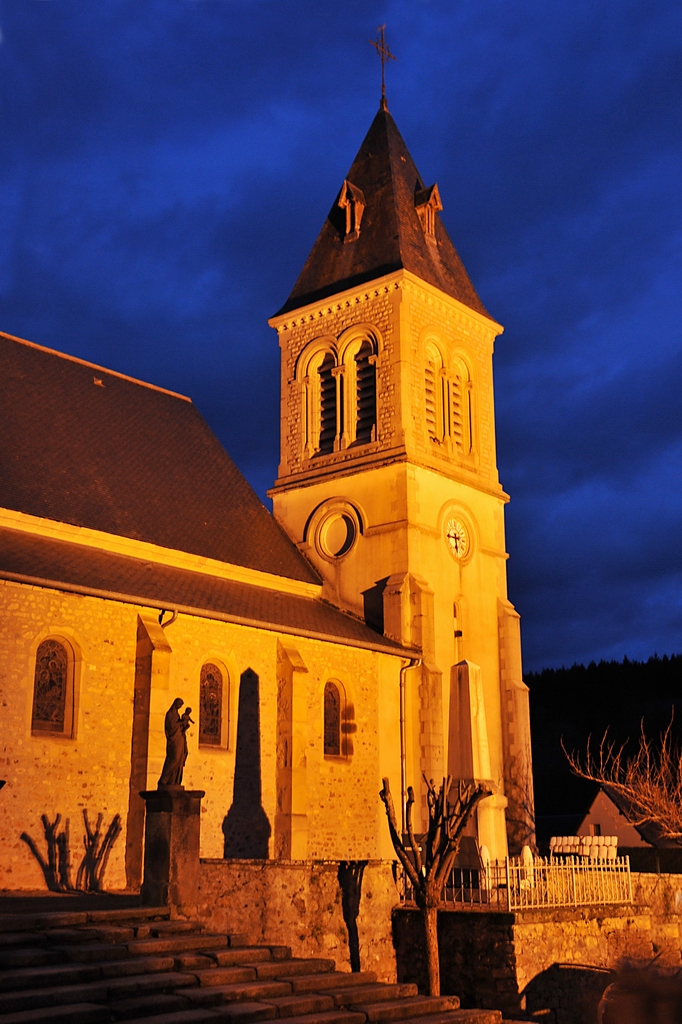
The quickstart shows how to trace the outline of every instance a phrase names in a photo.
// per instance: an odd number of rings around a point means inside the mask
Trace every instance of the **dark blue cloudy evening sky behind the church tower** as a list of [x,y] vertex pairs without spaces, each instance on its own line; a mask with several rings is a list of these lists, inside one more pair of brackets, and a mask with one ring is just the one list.
[[682,650],[679,0],[0,0],[0,330],[190,394],[261,497],[286,299],[391,113],[492,314],[526,669]]

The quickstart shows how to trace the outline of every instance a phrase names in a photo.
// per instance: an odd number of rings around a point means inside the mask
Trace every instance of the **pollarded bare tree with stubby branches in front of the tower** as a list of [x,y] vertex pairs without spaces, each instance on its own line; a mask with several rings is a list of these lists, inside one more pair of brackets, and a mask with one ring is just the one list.
[[384,785],[379,796],[386,808],[393,848],[414,890],[415,902],[422,911],[429,994],[440,995],[438,907],[442,905],[442,888],[453,870],[466,823],[478,801],[483,797],[489,797],[491,791],[480,783],[460,781],[455,801],[449,803],[447,798],[453,784],[450,775],[442,780],[442,785],[438,788],[433,779],[429,782],[425,776],[424,781],[427,785],[429,808],[428,831],[419,838],[415,835],[412,820],[415,792],[410,786],[406,807],[407,843],[406,837],[400,836],[398,831],[387,778],[383,780]]

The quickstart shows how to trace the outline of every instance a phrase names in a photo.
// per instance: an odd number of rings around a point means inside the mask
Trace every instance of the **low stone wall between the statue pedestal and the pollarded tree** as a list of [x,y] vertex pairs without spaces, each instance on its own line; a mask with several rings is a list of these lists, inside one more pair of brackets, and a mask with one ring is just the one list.
[[[367,862],[356,952],[359,968],[375,971],[380,981],[395,981],[391,911],[397,898],[391,862]],[[295,956],[329,957],[337,970],[350,971],[352,925],[349,935],[343,903],[339,861],[201,862],[199,916],[213,930],[243,934],[253,944],[291,946]]]

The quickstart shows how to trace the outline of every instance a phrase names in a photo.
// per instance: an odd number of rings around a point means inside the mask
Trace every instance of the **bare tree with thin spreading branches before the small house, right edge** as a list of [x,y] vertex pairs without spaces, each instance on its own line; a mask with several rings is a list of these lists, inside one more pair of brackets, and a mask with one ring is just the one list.
[[581,778],[603,785],[621,797],[619,807],[633,825],[653,825],[662,838],[682,846],[682,751],[672,736],[672,719],[654,744],[642,723],[639,745],[628,757],[627,743],[620,746],[605,732],[593,752],[588,740],[585,756],[563,751]]

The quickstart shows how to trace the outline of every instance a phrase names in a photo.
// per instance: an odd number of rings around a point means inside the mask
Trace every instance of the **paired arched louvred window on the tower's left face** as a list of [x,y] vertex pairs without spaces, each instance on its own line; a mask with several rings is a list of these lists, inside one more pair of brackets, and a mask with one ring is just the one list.
[[377,371],[374,339],[315,342],[297,373],[303,383],[303,446],[309,458],[330,455],[377,436]]

